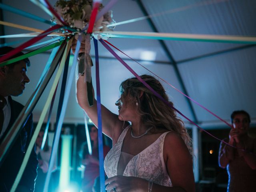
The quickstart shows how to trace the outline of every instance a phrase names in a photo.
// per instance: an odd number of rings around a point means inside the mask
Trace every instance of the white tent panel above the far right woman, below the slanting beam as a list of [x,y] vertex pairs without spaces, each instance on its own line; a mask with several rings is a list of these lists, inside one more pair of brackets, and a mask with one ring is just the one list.
[[[246,110],[256,120],[256,48],[247,48],[178,65],[190,97],[229,121],[234,110]],[[200,122],[217,118],[193,104]]]

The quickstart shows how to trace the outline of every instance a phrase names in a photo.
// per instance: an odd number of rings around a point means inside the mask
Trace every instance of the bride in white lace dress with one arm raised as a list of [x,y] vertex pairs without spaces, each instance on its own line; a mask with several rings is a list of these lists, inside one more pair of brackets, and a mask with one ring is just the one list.
[[[76,42],[72,45],[73,50],[75,46]],[[84,52],[83,47],[84,44],[80,52]],[[97,126],[96,100],[93,106],[88,105],[87,87],[84,76],[81,76],[83,71],[79,73],[78,104]],[[141,78],[168,100],[156,78],[149,75]],[[102,130],[113,142],[113,148],[104,161],[108,176],[106,190],[194,192],[191,138],[176,112],[137,78],[122,82],[120,91],[121,97],[116,102],[118,115],[103,105],[101,108]],[[170,104],[173,105],[172,102]]]

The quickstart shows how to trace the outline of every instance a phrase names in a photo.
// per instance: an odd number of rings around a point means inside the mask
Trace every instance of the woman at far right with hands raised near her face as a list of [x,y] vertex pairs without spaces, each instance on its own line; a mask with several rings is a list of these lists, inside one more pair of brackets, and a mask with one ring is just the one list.
[[248,135],[250,122],[246,111],[234,111],[231,114],[233,127],[229,138],[224,139],[231,146],[220,143],[219,166],[227,168],[228,192],[256,190],[256,138]]

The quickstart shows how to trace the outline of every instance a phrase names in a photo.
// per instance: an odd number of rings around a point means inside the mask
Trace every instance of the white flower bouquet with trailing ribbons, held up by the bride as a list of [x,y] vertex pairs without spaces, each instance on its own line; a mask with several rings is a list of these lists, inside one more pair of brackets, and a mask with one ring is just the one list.
[[[84,30],[86,29],[86,26],[89,25],[92,7],[92,0],[58,0],[54,5],[54,8],[58,15],[60,15],[64,19],[64,21],[69,25],[70,28],[75,29],[75,32],[73,32],[73,34],[75,34],[76,39],[78,38],[78,34],[81,34],[81,32],[83,32],[82,41],[84,41],[85,43],[85,52],[79,54],[77,74],[78,76],[85,76],[84,81],[87,83],[88,103],[90,106],[93,105],[90,34],[86,34]],[[100,11],[102,8],[103,5],[100,4],[98,11]],[[52,18],[52,22],[55,22],[56,24],[62,24],[56,18]],[[108,25],[113,23],[115,23],[115,21],[112,19],[112,11],[110,10],[106,14],[101,16],[98,20],[96,20],[92,30],[92,35],[96,39],[101,38],[99,33],[103,31],[112,31],[114,27],[108,27]],[[68,33],[65,29],[62,29],[60,32],[62,32],[63,34]]]

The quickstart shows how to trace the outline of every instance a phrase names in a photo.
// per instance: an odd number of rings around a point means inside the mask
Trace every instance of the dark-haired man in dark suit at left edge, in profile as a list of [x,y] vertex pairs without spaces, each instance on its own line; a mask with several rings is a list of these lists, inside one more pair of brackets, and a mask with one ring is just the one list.
[[[0,56],[7,54],[11,50],[13,50],[11,47],[0,48]],[[12,58],[20,55],[23,55],[23,53],[19,52]],[[2,104],[2,108],[0,108],[0,115],[2,113],[2,122],[0,116],[0,143],[2,143],[8,130],[10,130],[24,107],[22,104],[12,100],[11,96],[22,94],[25,84],[30,82],[28,76],[26,76],[28,66],[30,66],[30,61],[26,58],[0,67],[0,104]],[[32,114],[30,114],[0,167],[0,192],[9,192],[12,188],[33,132]],[[36,152],[32,150],[16,192],[34,191],[37,166]]]

